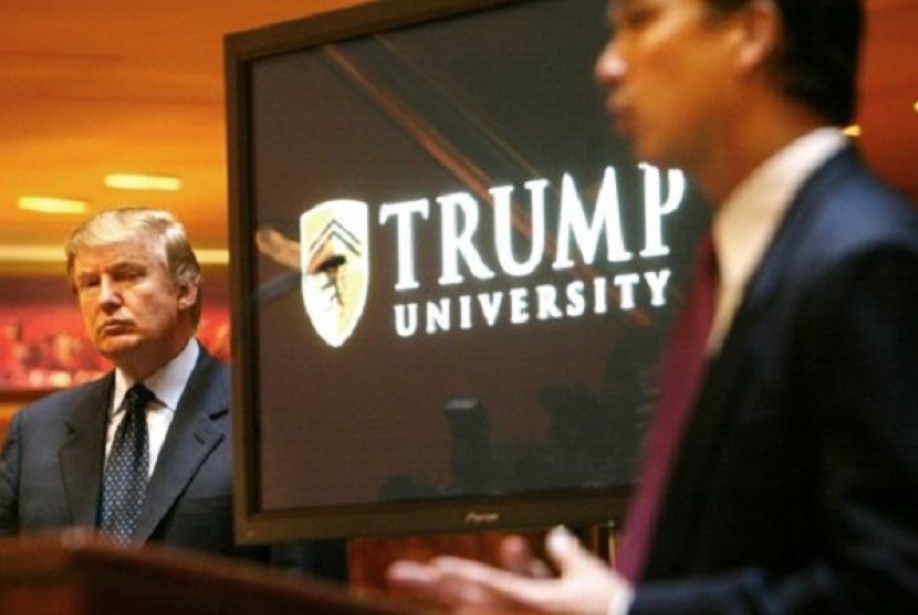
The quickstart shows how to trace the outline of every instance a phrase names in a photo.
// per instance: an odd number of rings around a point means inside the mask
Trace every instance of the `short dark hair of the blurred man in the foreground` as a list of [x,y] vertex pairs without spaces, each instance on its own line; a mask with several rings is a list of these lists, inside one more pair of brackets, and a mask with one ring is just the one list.
[[[757,0],[705,0],[728,13]],[[771,70],[784,94],[836,126],[857,111],[863,0],[769,0],[783,22]]]

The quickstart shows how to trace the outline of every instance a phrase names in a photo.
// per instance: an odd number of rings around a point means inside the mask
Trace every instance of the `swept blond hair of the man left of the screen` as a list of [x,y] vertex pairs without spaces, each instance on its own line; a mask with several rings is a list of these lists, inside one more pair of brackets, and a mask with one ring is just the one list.
[[64,247],[71,289],[76,290],[73,268],[81,250],[142,239],[148,239],[157,247],[156,256],[176,285],[198,286],[197,301],[190,312],[191,323],[197,326],[201,314],[201,269],[185,227],[168,211],[139,207],[108,209],[76,227]]

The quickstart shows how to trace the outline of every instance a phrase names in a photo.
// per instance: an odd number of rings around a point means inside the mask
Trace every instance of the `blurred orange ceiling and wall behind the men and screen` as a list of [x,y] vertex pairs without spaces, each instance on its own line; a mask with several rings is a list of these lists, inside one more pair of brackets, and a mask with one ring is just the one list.
[[[2,0],[0,275],[59,272],[74,223],[123,205],[173,210],[204,260],[225,263],[223,35],[357,3]],[[867,7],[859,139],[918,200],[918,2]],[[121,188],[113,174],[152,175],[165,189]],[[29,197],[75,202],[44,212]]]

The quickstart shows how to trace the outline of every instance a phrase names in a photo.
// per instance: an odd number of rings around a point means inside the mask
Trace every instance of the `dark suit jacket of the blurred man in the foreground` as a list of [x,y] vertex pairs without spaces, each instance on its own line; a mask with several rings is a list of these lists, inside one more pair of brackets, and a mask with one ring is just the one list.
[[630,613],[918,613],[918,222],[853,150],[709,365]]

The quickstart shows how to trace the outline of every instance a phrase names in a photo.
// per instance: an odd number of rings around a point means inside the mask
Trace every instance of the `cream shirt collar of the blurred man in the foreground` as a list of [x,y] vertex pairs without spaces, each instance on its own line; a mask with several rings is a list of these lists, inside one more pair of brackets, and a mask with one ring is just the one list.
[[847,143],[837,128],[797,138],[737,186],[713,220],[721,283],[743,285],[807,177]]

